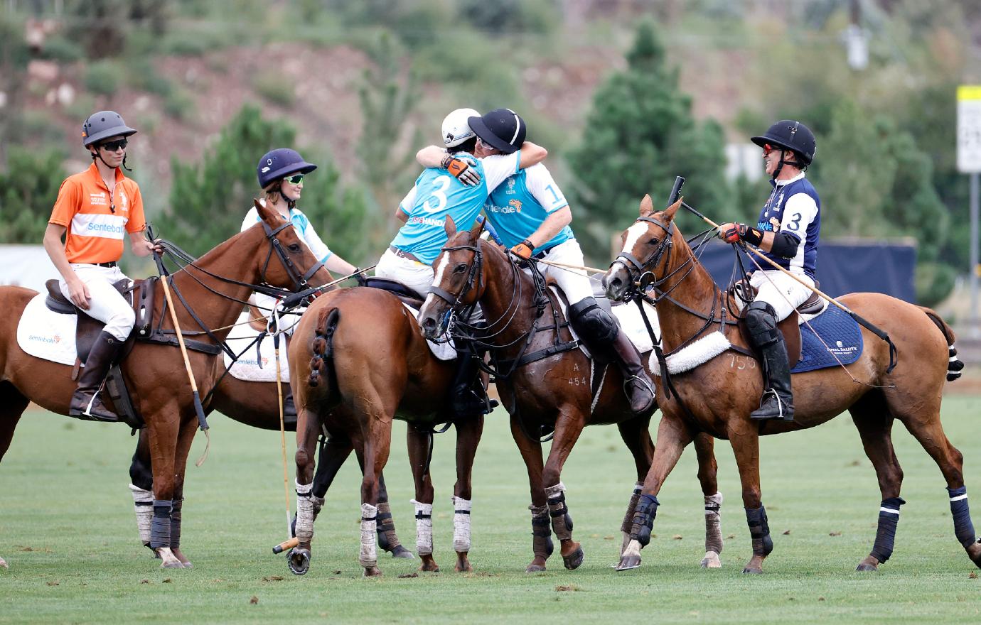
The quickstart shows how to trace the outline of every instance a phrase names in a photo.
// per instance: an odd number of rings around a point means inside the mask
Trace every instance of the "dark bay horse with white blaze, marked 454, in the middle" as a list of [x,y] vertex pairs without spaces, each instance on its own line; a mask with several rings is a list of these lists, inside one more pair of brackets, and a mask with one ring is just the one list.
[[[633,507],[640,497],[640,482],[654,453],[648,431],[650,415],[637,416],[630,410],[623,378],[615,366],[603,375],[594,398],[592,363],[573,342],[565,314],[555,298],[542,288],[541,281],[533,281],[500,248],[481,239],[480,228],[478,224],[471,231],[458,232],[447,217],[448,241],[434,263],[438,267],[434,288],[419,312],[419,323],[428,337],[436,338],[445,332],[449,312],[480,304],[488,319],[487,327],[475,329],[472,338],[490,348],[496,368],[494,384],[511,415],[511,436],[528,468],[534,556],[526,570],[545,570],[545,560],[552,553],[549,518],[551,529],[561,542],[563,563],[574,569],[582,563],[584,554],[580,544],[572,540],[562,466],[585,426],[617,424],[620,437],[634,457],[638,479],[621,527],[626,537]],[[542,426],[554,430],[544,464],[542,442],[529,434],[541,431]],[[718,512],[722,496],[715,480],[713,444],[707,435],[698,437],[696,442],[698,480],[706,509],[706,553],[701,564],[714,568],[721,565]],[[623,546],[626,544],[625,540]]]

